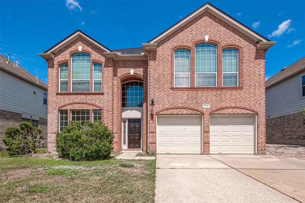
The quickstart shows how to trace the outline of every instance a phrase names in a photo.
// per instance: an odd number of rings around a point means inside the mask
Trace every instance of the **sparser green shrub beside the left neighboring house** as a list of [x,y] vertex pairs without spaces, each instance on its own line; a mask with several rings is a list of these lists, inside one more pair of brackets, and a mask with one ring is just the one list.
[[29,122],[20,122],[18,127],[6,128],[2,141],[9,148],[9,156],[30,154],[37,152],[41,141],[42,130]]

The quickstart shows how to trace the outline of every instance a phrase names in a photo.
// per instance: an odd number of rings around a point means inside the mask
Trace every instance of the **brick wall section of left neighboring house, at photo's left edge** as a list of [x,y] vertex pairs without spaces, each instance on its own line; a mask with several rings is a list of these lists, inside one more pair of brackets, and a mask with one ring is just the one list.
[[7,127],[18,127],[22,114],[12,111],[0,110],[0,151],[7,148],[1,141]]

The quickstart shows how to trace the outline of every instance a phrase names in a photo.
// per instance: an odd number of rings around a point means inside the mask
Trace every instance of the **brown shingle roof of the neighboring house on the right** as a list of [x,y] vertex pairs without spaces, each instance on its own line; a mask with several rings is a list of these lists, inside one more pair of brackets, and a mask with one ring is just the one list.
[[282,81],[283,79],[292,76],[294,74],[297,74],[298,72],[305,70],[305,57],[301,58],[299,61],[296,61],[294,64],[289,65],[284,70],[281,70],[277,74],[273,75],[271,78],[267,79],[265,84],[266,88]]

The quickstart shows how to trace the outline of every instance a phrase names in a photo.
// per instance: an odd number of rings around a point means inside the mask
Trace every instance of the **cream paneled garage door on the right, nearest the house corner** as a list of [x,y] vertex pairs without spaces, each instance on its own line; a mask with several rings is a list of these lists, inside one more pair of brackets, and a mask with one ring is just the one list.
[[253,154],[254,116],[210,116],[210,154]]

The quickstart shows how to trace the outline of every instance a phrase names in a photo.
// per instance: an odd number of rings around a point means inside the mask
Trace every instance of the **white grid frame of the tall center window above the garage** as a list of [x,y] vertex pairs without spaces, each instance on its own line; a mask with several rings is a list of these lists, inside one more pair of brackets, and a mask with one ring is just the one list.
[[[209,43],[203,43],[203,44],[209,44]],[[209,49],[207,49],[207,47],[201,47],[200,45],[203,45],[203,44],[197,44],[196,46],[195,46],[195,86],[196,87],[217,87],[217,46],[216,45],[214,45],[214,44],[209,44],[209,45],[211,45],[211,48],[210,48],[210,50],[211,50],[211,54],[206,54],[205,53],[205,55],[204,55],[204,61],[201,61],[201,59],[200,59],[200,57],[199,57],[199,60],[198,60],[198,56],[201,56],[202,54],[199,54],[199,55],[197,55],[197,51],[199,50],[199,51],[201,51],[201,50],[209,50]],[[214,48],[215,47],[215,48]],[[212,50],[216,50],[216,54],[212,54]],[[203,55],[202,55],[203,56]],[[207,60],[206,60],[206,57],[207,56],[210,56],[209,58],[211,58],[211,59],[209,59],[209,61],[208,62],[211,62],[211,64],[212,64],[212,62],[215,62],[215,64],[216,64],[216,66],[215,66],[215,68],[216,68],[216,72],[196,72],[196,67],[197,67],[197,65],[196,65],[196,62],[204,62],[205,63],[205,65],[206,65],[206,62],[207,62]],[[215,58],[215,60],[212,60],[212,56],[216,56],[216,58]],[[200,67],[200,65],[199,65],[199,69],[200,69],[201,67]],[[206,68],[206,66],[205,66],[205,68]],[[210,68],[212,69],[213,68],[213,66],[211,65],[210,66]],[[214,74],[215,75],[215,79],[216,79],[216,81],[215,81],[215,86],[197,86],[196,85],[196,75],[204,75],[204,74]]]

